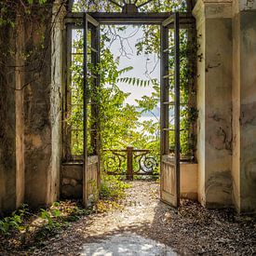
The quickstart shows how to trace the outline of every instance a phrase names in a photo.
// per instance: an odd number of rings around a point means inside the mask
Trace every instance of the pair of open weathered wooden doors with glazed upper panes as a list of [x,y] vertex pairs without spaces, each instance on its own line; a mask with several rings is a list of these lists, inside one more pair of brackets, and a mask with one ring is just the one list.
[[[161,200],[173,207],[180,201],[180,19],[174,13],[160,23],[161,27]],[[141,19],[141,23],[143,20]],[[126,22],[122,22],[126,23]],[[130,23],[130,22],[128,22]],[[84,30],[84,204],[95,200],[100,188],[100,122],[97,119],[100,77],[100,23],[85,13]],[[174,31],[174,70],[170,74],[170,30]],[[171,50],[173,52],[173,50]],[[170,101],[170,76],[174,75],[174,99]],[[170,106],[174,107],[174,129],[170,125]],[[88,120],[90,116],[90,120]],[[94,118],[91,118],[94,117]],[[169,133],[175,136],[175,151],[169,160]],[[88,149],[88,145],[90,149]],[[90,152],[89,152],[90,151]]]

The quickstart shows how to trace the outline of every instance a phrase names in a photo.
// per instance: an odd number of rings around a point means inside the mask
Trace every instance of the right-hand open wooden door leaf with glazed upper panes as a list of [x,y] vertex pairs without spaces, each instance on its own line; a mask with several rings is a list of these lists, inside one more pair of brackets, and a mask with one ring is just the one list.
[[[169,101],[169,27],[174,25],[174,101]],[[180,203],[180,23],[175,13],[161,25],[161,200],[172,207]],[[174,129],[169,128],[169,108],[174,106]],[[174,131],[174,155],[170,156],[169,132]]]

